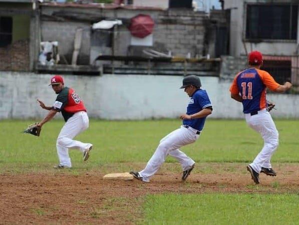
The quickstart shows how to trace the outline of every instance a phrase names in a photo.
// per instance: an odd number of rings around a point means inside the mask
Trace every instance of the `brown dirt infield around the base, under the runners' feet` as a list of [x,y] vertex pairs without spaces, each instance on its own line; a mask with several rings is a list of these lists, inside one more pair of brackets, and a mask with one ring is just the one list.
[[195,170],[186,182],[181,174],[165,168],[150,183],[103,180],[104,174],[94,170],[79,175],[4,173],[0,175],[0,223],[134,224],[142,219],[143,196],[149,193],[298,193],[298,164],[280,165],[277,173],[276,177],[261,174],[260,185],[253,184],[244,166],[234,172]]

